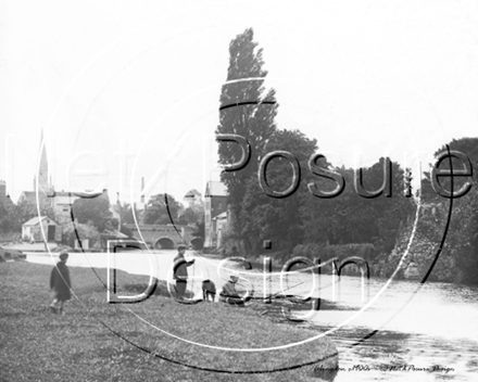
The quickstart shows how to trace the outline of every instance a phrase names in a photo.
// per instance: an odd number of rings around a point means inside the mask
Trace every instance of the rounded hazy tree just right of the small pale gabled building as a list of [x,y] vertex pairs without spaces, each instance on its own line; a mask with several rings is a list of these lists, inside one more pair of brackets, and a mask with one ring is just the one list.
[[73,203],[74,219],[80,224],[89,224],[102,232],[112,218],[110,202],[104,198],[83,199]]

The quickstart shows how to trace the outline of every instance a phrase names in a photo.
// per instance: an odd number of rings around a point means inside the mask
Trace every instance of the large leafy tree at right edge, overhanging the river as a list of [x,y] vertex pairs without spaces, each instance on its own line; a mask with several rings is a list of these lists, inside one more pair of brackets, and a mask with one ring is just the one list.
[[[478,139],[464,138],[453,140],[449,143],[451,150],[457,150],[464,153],[471,162],[474,169],[478,168]],[[445,152],[443,145],[435,153],[437,157]],[[453,168],[462,168],[462,164],[455,160],[452,161]],[[440,168],[450,168],[449,160],[444,160]],[[415,240],[412,244],[411,254],[413,260],[418,265],[420,275],[425,275],[436,258],[439,244],[445,232],[449,222],[450,207],[451,220],[446,234],[443,251],[438,262],[435,264],[430,280],[446,282],[466,282],[478,283],[478,190],[477,174],[474,171],[473,186],[470,191],[452,202],[450,199],[440,196],[431,189],[430,176],[422,182],[422,206],[418,225],[416,227]],[[469,178],[455,177],[453,188],[456,191]],[[445,190],[451,189],[450,178],[443,178],[440,182]],[[410,232],[413,228],[413,221],[408,221],[404,230]],[[397,247],[397,253],[402,253],[405,247],[407,237],[403,234]],[[393,258],[389,263],[394,264]]]

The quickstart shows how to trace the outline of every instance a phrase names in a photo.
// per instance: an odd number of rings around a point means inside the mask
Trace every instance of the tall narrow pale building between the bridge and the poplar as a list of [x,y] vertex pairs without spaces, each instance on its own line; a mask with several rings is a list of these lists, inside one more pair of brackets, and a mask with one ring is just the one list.
[[[227,212],[227,189],[221,181],[209,181],[204,195],[204,246],[217,246],[217,229],[225,227],[224,216],[218,215]],[[217,222],[219,221],[221,225]],[[227,213],[226,213],[227,222]]]

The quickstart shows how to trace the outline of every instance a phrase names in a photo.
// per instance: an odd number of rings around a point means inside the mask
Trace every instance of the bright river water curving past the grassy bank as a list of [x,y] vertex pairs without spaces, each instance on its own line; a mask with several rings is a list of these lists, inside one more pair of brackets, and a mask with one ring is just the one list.
[[[166,280],[174,256],[173,251],[149,256],[137,253],[134,257],[127,253],[110,258],[110,266]],[[189,256],[193,254],[186,255]],[[192,273],[211,279],[221,288],[229,272],[217,272],[218,260],[194,257]],[[51,265],[55,258],[28,254],[27,260]],[[71,254],[68,266],[106,267],[108,255]],[[264,278],[257,271],[243,271],[241,276],[244,288],[254,284],[256,295],[264,293],[264,285],[273,294],[282,290],[305,295],[313,290],[320,291],[313,296],[335,303],[336,308],[313,311],[300,324],[315,328],[317,334],[326,333],[336,343],[341,368],[336,382],[478,381],[477,286],[437,282],[420,285],[418,281],[349,276],[339,280],[331,275],[317,277],[318,285],[314,285],[313,277],[303,272],[282,282],[278,276]],[[194,292],[201,292],[199,281]],[[430,371],[433,368],[436,371]]]

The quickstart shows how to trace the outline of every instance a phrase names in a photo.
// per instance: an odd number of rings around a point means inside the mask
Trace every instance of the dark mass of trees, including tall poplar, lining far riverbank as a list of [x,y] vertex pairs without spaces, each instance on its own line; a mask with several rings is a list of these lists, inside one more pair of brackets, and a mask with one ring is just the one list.
[[[419,190],[412,190],[411,169],[402,168],[391,158],[378,158],[362,174],[354,168],[334,166],[320,156],[317,163],[312,164],[315,167],[311,167],[311,156],[319,151],[317,141],[299,130],[277,127],[275,117],[279,112],[279,102],[276,91],[264,86],[267,72],[263,66],[263,50],[254,41],[252,29],[231,40],[227,80],[219,98],[219,124],[215,132],[244,137],[252,155],[244,168],[222,174],[222,181],[228,190],[230,211],[228,230],[223,232],[225,252],[232,253],[234,249],[240,249],[249,256],[267,254],[290,258],[291,254],[295,254],[324,259],[338,253],[362,251],[374,264],[375,272],[388,277],[405,253],[404,244],[414,224],[419,221],[412,254],[405,265],[412,260],[422,268],[429,265],[431,243],[437,243],[443,231],[443,214],[448,208],[448,200],[432,190],[430,174],[425,174]],[[474,168],[478,168],[477,141],[454,140],[450,147],[473,158]],[[439,148],[436,156],[444,149]],[[302,171],[297,191],[288,198],[271,198],[257,179],[261,160],[273,151],[291,153],[298,160],[299,167],[307,169]],[[237,163],[241,155],[241,149],[235,142],[221,142],[218,145],[219,163],[223,165]],[[375,191],[382,188],[387,166],[390,167],[391,198],[363,198],[360,189]],[[445,166],[443,164],[443,168]],[[339,174],[344,183],[341,192],[335,198],[314,195],[314,190],[332,192],[341,186],[334,177],[318,177],[314,168],[322,168],[323,174]],[[293,170],[287,158],[277,156],[268,163],[267,187],[284,191],[290,187],[291,179]],[[474,181],[476,183],[476,174]],[[454,189],[463,182],[457,180]],[[433,270],[437,280],[478,280],[477,193],[475,186],[467,195],[453,201],[453,220],[446,246],[438,262],[439,266]],[[430,208],[435,208],[435,213],[430,213]],[[417,214],[418,220],[415,219]],[[264,240],[272,241],[272,251],[263,249]],[[338,250],[340,246],[351,250]]]

